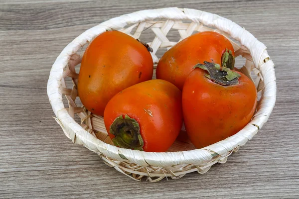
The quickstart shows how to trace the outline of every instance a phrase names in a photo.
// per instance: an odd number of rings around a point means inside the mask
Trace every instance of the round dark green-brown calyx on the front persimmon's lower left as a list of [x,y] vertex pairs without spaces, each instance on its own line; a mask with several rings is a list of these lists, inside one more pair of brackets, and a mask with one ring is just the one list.
[[115,146],[143,151],[144,141],[140,134],[140,126],[136,119],[123,115],[115,118],[110,126],[110,133]]

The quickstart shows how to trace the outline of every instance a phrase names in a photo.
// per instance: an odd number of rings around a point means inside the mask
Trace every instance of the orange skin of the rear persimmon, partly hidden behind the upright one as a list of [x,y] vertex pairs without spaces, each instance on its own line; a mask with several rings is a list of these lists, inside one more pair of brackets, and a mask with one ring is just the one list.
[[156,78],[174,84],[180,90],[191,73],[193,66],[204,61],[221,64],[225,50],[234,48],[230,41],[217,32],[199,32],[178,42],[170,48],[159,60],[156,68]]

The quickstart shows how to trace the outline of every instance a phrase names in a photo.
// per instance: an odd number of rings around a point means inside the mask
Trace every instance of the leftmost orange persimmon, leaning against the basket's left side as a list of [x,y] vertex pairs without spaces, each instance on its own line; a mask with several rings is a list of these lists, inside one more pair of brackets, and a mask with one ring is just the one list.
[[82,104],[103,115],[118,92],[150,80],[153,62],[147,48],[133,37],[113,30],[97,36],[87,47],[78,77]]

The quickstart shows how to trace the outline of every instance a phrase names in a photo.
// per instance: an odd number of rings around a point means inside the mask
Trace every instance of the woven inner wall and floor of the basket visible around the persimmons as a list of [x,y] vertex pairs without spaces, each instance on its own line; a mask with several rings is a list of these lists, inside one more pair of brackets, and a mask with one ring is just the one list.
[[[158,59],[166,52],[167,49],[171,48],[177,42],[190,36],[191,34],[203,31],[216,31],[223,34],[230,39],[233,44],[236,56],[235,67],[238,68],[243,74],[252,79],[255,83],[258,91],[258,100],[261,97],[261,92],[264,87],[263,78],[260,76],[259,70],[255,68],[250,51],[240,45],[238,41],[232,39],[228,34],[221,30],[207,27],[203,24],[198,24],[191,21],[174,21],[174,20],[149,20],[136,24],[129,24],[128,26],[120,29],[124,33],[127,33],[134,38],[139,38],[147,42],[150,47],[153,48],[151,53],[154,61],[154,71],[152,79],[155,79],[155,68]],[[62,93],[65,98],[63,102],[67,111],[74,120],[80,124],[86,131],[91,133],[98,139],[113,145],[112,140],[109,138],[102,116],[92,114],[86,110],[78,97],[77,92],[77,79],[80,70],[80,63],[83,53],[88,46],[88,43],[82,46],[82,48],[71,56],[69,63],[64,68],[63,78],[61,80]],[[259,103],[259,101],[258,101]],[[194,145],[184,136],[184,127],[182,132],[168,149],[168,152],[174,151],[187,151],[195,149]]]

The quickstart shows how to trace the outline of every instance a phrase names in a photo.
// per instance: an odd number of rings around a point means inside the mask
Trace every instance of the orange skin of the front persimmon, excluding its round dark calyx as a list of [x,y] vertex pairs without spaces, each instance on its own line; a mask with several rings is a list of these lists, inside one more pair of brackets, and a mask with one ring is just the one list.
[[[140,125],[143,150],[164,152],[173,144],[182,127],[181,91],[164,80],[149,80],[123,90],[106,106],[107,132],[116,117],[126,114]],[[108,134],[114,138],[110,132]]]

